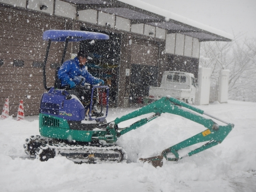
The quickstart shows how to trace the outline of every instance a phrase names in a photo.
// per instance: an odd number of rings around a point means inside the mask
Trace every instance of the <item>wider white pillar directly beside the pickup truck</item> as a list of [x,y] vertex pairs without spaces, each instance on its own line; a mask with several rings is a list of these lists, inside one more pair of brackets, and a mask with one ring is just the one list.
[[195,105],[208,105],[210,98],[211,68],[200,67],[198,70],[198,88]]

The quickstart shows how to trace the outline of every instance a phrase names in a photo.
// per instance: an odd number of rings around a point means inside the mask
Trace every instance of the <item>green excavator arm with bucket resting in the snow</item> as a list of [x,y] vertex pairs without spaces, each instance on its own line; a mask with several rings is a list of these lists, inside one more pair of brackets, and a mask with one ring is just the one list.
[[[190,110],[187,110],[186,108]],[[194,113],[193,111],[198,114]],[[143,114],[149,114],[152,112],[154,112],[154,115],[150,116],[149,118],[141,119],[125,128],[118,128],[118,124],[123,121],[130,120],[132,118],[141,116]],[[219,118],[216,118],[214,116],[211,116],[210,114],[207,114],[201,109],[198,109],[196,107],[193,107],[192,105],[189,105],[180,100],[167,96],[167,97],[161,98],[158,101],[155,101],[154,103],[146,105],[140,109],[134,110],[133,112],[125,116],[116,118],[114,121],[109,123],[107,129],[109,130],[110,134],[113,134],[117,139],[121,135],[129,132],[130,130],[137,129],[138,127],[145,125],[149,121],[154,120],[155,118],[159,117],[162,113],[165,113],[165,112],[176,114],[184,118],[187,118],[189,120],[192,120],[196,123],[203,125],[207,129],[204,130],[203,132],[196,134],[195,136],[192,136],[191,138],[188,138],[172,147],[169,147],[168,149],[163,150],[162,154],[159,156],[145,158],[145,159],[140,158],[140,161],[143,161],[143,162],[147,161],[151,163],[154,167],[157,167],[157,166],[161,167],[163,165],[163,161],[162,161],[163,158],[167,159],[168,161],[178,161],[184,158],[185,156],[180,157],[178,151],[180,149],[184,149],[191,145],[208,141],[206,144],[202,145],[201,147],[189,152],[186,156],[192,156],[193,154],[196,154],[205,149],[209,149],[210,147],[218,145],[219,143],[222,143],[222,141],[226,138],[229,132],[231,132],[231,130],[234,128],[234,124],[220,120]],[[201,115],[205,114],[218,121],[222,121],[227,125],[218,125],[213,120],[205,118],[199,114]],[[168,158],[167,155],[170,153],[173,154],[175,158]]]

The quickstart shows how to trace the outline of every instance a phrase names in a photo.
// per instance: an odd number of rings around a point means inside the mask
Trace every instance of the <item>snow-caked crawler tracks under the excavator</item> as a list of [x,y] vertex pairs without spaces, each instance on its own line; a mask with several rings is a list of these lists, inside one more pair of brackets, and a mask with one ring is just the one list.
[[[29,146],[33,142],[40,142],[41,145],[31,152]],[[31,136],[25,140],[24,149],[27,154],[33,158],[40,159],[40,161],[47,161],[49,158],[54,158],[58,154],[64,154],[67,159],[74,161],[75,163],[100,163],[100,162],[126,162],[127,154],[125,149],[118,145],[69,145],[66,143],[56,143],[54,144],[54,139],[45,138],[39,135]],[[105,146],[105,147],[104,147]],[[31,154],[32,153],[32,154]],[[77,158],[81,153],[88,154],[118,154],[118,158]],[[46,154],[46,155],[45,155]],[[72,154],[72,155],[71,155]]]

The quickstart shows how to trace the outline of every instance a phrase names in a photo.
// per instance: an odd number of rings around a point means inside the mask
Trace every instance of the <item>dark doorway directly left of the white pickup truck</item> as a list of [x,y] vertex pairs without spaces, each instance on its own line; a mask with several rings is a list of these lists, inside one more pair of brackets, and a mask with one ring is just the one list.
[[130,98],[133,103],[142,103],[149,96],[149,86],[157,86],[156,66],[132,64]]

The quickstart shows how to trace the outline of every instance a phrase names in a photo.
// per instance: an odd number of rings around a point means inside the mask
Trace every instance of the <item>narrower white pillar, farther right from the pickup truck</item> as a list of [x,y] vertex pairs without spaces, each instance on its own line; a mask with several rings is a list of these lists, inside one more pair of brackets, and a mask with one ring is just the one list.
[[218,101],[220,103],[226,103],[229,92],[229,70],[220,71],[218,84]]

